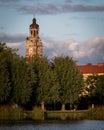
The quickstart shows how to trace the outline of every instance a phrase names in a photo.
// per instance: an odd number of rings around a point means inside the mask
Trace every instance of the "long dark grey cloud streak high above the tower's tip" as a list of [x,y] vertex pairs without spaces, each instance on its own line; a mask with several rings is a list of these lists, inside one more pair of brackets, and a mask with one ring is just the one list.
[[70,5],[70,4],[60,4],[56,5],[53,3],[49,4],[39,4],[28,5],[18,8],[18,11],[25,14],[59,14],[68,12],[91,12],[91,11],[104,11],[104,6],[93,6],[93,5]]

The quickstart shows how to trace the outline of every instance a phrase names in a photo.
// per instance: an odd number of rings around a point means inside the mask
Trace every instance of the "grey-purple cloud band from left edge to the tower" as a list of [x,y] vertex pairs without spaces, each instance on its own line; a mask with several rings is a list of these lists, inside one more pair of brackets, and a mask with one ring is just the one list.
[[24,34],[9,35],[0,33],[0,42],[20,42],[24,41],[26,36]]

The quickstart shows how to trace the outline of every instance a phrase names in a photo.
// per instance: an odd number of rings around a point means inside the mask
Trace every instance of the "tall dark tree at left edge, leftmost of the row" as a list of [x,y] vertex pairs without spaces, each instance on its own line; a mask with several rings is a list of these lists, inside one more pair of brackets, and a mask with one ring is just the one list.
[[7,103],[10,97],[11,82],[8,61],[13,56],[14,50],[0,43],[0,102]]

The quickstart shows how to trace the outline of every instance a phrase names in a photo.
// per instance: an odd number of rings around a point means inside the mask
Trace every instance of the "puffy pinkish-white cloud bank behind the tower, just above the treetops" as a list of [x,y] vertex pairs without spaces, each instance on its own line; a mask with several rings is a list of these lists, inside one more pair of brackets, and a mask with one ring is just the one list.
[[[86,42],[79,43],[75,40],[54,41],[44,38],[43,55],[52,58],[67,55],[78,61],[78,64],[104,62],[104,37],[95,37]],[[7,43],[9,47],[18,48],[18,54],[25,56],[25,41]]]

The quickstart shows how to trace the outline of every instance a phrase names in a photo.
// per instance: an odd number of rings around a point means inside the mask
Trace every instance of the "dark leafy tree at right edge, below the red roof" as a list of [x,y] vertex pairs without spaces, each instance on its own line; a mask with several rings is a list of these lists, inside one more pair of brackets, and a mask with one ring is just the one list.
[[95,104],[104,104],[104,75],[92,75],[86,80],[87,91],[90,102]]

